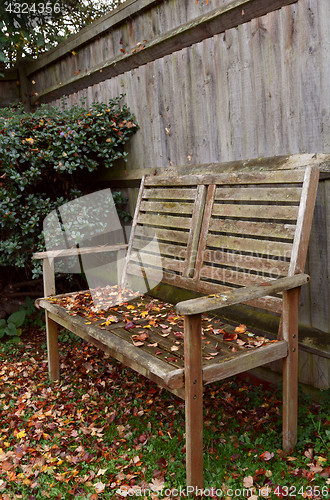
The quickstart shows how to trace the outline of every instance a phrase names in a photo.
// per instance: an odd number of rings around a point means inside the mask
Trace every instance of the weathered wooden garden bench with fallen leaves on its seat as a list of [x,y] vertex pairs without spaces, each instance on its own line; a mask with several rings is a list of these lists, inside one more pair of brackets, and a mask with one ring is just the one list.
[[[298,300],[309,280],[304,266],[318,177],[314,166],[271,170],[270,165],[261,171],[251,161],[248,171],[242,163],[241,170],[221,174],[147,176],[122,271],[123,290],[135,279],[141,284],[154,278],[157,284],[161,276],[162,283],[202,296],[181,301],[174,310],[150,296],[125,303],[123,291],[121,306],[93,312],[87,321],[88,292],[36,301],[46,311],[51,380],[59,378],[59,324],[185,400],[187,486],[203,486],[203,384],[283,359],[283,448],[296,443]],[[45,297],[55,294],[54,256],[35,254],[43,259]],[[113,292],[104,289],[104,300]],[[84,308],[72,315],[74,301]],[[135,328],[130,329],[132,304]],[[214,311],[233,304],[281,315],[277,340],[221,325]]]

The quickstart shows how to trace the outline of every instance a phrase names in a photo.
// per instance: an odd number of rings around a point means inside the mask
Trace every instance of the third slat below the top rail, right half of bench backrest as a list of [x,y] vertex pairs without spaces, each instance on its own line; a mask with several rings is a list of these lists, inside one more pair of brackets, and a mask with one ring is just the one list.
[[249,234],[254,236],[271,236],[293,240],[296,226],[294,224],[277,224],[274,222],[251,222],[230,219],[212,219],[210,231],[221,233]]

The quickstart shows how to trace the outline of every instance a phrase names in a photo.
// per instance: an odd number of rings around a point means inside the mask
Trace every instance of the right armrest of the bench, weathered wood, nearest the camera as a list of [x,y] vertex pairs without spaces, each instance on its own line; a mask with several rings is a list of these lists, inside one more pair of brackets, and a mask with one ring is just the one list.
[[271,295],[283,292],[284,290],[289,290],[290,288],[296,288],[308,283],[309,279],[310,278],[307,274],[295,274],[294,276],[279,278],[261,285],[235,288],[220,294],[185,300],[176,305],[176,311],[178,314],[187,316],[213,311],[214,309],[220,309],[234,304],[241,304],[247,302],[248,300],[259,299],[265,295]]

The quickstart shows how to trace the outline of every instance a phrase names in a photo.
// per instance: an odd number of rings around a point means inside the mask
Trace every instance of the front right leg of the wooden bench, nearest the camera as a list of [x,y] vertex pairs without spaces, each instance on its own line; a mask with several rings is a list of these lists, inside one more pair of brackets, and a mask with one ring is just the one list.
[[187,487],[203,488],[203,373],[201,315],[184,317]]

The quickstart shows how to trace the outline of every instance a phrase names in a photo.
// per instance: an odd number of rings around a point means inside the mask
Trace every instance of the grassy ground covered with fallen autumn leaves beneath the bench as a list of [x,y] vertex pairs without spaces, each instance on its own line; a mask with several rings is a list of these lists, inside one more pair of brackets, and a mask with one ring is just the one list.
[[[50,383],[45,334],[0,349],[0,499],[186,494],[184,404],[63,332]],[[205,390],[204,495],[330,496],[330,403],[302,394],[295,452],[281,449],[281,395],[231,379]],[[200,492],[199,492],[200,493]]]

